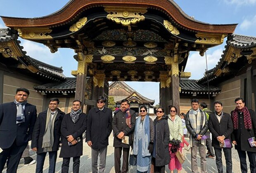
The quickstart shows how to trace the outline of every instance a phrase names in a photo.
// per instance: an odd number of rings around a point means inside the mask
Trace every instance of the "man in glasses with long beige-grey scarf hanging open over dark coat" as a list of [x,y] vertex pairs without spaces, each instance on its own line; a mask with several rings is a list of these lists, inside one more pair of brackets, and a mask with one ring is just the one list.
[[49,108],[39,113],[32,134],[31,148],[36,151],[36,173],[43,173],[45,156],[49,153],[49,173],[55,173],[57,151],[60,143],[60,127],[64,112],[59,110],[59,99],[51,98]]

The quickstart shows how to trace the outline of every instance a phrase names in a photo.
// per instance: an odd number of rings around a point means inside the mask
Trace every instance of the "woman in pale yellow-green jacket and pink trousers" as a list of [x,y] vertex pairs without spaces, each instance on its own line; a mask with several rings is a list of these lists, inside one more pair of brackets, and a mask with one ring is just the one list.
[[181,153],[182,147],[184,147],[184,144],[181,143],[183,136],[183,125],[181,118],[177,115],[177,108],[175,106],[170,107],[170,114],[168,115],[168,126],[170,130],[169,153],[171,157],[171,161],[168,166],[171,170],[171,173],[173,173],[174,169],[177,169],[178,173],[180,173],[180,170],[182,169],[182,163],[180,163],[178,160],[176,152]]

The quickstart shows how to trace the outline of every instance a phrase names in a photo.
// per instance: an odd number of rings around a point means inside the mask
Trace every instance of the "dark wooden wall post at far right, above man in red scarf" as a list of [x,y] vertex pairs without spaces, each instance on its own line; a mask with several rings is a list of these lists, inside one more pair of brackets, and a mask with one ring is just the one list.
[[[248,67],[247,68],[247,71],[246,71],[246,78],[247,78],[247,84],[246,84],[246,86],[247,86],[247,88],[246,88],[246,92],[247,92],[247,94],[246,94],[246,96],[247,96],[247,98],[244,98],[244,99],[246,99],[246,106],[247,106],[247,108],[249,108],[249,109],[252,109],[253,108],[253,106],[252,106],[252,95],[253,95],[253,91],[252,91],[252,89],[253,89],[253,86],[252,86],[252,84],[253,84],[253,81],[252,81],[252,70],[251,70],[251,68],[252,68],[252,66],[250,66],[250,67]],[[255,86],[254,86],[255,87]]]

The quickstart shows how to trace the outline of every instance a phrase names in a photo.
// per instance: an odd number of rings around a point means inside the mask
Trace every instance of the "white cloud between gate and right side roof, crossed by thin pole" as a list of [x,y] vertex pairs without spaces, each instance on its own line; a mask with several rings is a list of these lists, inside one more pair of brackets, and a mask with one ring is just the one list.
[[[208,52],[206,52],[208,53]],[[223,54],[222,49],[216,49],[212,53],[207,54],[207,64],[208,64],[208,70],[211,68],[214,68],[218,61],[221,58],[221,55]],[[199,52],[190,53],[190,56],[187,60],[187,65],[185,68],[185,72],[191,72],[190,79],[200,79],[203,77],[204,72],[206,70],[206,60],[205,55],[200,56]]]

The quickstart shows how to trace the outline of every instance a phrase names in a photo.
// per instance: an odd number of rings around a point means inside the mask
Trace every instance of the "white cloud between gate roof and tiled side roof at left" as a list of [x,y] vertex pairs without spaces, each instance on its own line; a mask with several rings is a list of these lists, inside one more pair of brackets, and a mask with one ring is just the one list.
[[28,40],[21,40],[21,45],[24,47],[24,51],[27,52],[26,55],[35,58],[44,63],[52,63],[54,58],[59,56],[59,52],[52,54],[50,49],[43,44],[35,43]]

